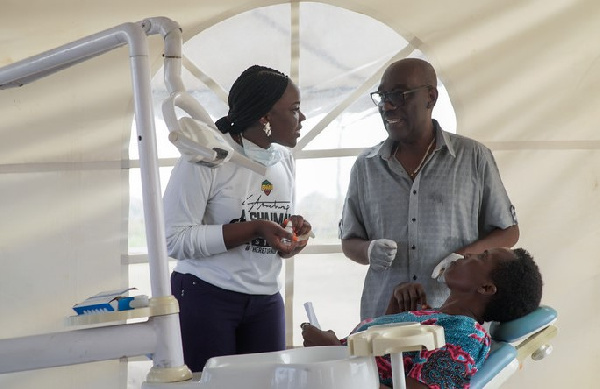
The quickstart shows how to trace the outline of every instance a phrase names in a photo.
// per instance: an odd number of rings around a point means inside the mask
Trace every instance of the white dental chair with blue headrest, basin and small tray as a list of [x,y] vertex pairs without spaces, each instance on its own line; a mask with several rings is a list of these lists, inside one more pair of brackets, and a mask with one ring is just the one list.
[[[472,389],[501,387],[531,357],[539,361],[552,351],[557,312],[546,305],[506,323],[492,323],[492,350],[471,380]],[[215,357],[191,381],[154,384],[143,389],[377,389],[373,355],[391,354],[394,389],[405,388],[402,352],[445,343],[438,326],[374,326],[353,334],[346,346],[296,348],[263,354]],[[241,385],[241,386],[239,386]]]

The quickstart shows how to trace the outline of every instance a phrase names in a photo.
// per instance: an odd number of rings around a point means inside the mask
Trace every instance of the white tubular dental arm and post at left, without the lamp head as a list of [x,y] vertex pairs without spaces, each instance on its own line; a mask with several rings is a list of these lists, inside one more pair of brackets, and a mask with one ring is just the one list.
[[[183,90],[179,78],[181,31],[176,22],[163,17],[124,23],[0,68],[0,89],[7,89],[33,82],[125,44],[129,45],[150,265],[151,302],[153,299],[169,301],[169,298],[172,298],[146,37],[153,34],[162,34],[165,38],[165,79],[169,89]],[[176,304],[176,300],[172,299]],[[149,381],[172,382],[191,378],[191,372],[183,361],[177,313],[155,316],[145,323],[0,340],[0,373],[146,354],[153,355]]]

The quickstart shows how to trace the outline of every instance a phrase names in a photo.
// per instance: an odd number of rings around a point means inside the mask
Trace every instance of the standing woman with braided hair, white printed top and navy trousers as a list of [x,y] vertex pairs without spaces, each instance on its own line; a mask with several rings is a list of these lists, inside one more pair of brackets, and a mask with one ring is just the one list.
[[[186,365],[201,371],[214,356],[285,348],[282,258],[300,252],[311,225],[294,209],[294,160],[300,91],[283,73],[246,69],[234,82],[227,116],[216,121],[237,152],[264,175],[225,163],[180,158],[167,185],[169,255],[177,259],[171,291],[179,301]],[[294,233],[284,222],[292,221]]]

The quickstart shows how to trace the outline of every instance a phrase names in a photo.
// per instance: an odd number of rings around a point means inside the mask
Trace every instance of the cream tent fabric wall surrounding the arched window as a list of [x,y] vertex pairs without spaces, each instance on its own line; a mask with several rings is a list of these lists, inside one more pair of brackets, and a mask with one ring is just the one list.
[[[166,16],[188,40],[244,11],[281,3],[306,2],[9,0],[0,13],[0,67],[124,22]],[[600,3],[320,3],[373,18],[420,50],[448,92],[456,131],[494,151],[517,208],[518,245],[535,255],[544,275],[543,302],[559,313],[553,354],[528,363],[507,386],[595,387],[600,46],[594,37],[600,36]],[[321,39],[351,38],[336,36],[343,29],[332,25],[331,37]],[[246,33],[251,36],[252,28]],[[150,42],[157,71],[162,42]],[[292,75],[302,77],[302,69],[317,60],[297,58],[290,55],[293,45],[284,47],[273,47],[272,55],[291,58]],[[230,64],[221,67],[226,83],[245,63],[237,55],[223,50],[214,61],[200,53],[192,59],[211,74],[211,66]],[[353,58],[348,52],[343,63],[352,68]],[[62,331],[74,302],[128,285],[132,104],[123,48],[0,90],[0,338]],[[126,383],[127,367],[118,361],[0,375],[0,387],[7,389]]]

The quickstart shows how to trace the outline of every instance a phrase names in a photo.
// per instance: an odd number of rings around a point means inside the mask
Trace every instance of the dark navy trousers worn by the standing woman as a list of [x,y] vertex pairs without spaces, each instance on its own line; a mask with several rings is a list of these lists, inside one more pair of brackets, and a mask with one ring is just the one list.
[[171,293],[179,301],[183,357],[193,372],[202,371],[215,356],[285,349],[279,293],[234,292],[177,272],[171,274]]

